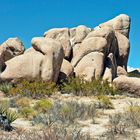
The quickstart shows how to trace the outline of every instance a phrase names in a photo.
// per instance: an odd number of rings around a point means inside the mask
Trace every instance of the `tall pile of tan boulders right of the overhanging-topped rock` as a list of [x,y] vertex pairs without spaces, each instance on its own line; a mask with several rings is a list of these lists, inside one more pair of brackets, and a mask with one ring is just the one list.
[[[129,30],[130,18],[122,14],[95,29],[57,28],[45,32],[44,37],[61,43],[65,54],[63,62],[69,63],[65,68],[62,65],[63,75],[69,76],[74,70],[76,76],[88,81],[103,77],[112,82],[118,75],[127,74]],[[68,67],[69,71],[65,71]]]

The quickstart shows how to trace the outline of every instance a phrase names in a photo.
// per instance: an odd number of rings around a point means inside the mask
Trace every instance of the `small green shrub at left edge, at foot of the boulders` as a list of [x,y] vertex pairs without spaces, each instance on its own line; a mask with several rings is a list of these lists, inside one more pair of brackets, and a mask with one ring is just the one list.
[[0,84],[0,91],[4,92],[5,94],[9,93],[9,91],[11,90],[12,88],[12,84],[11,83],[1,83]]

